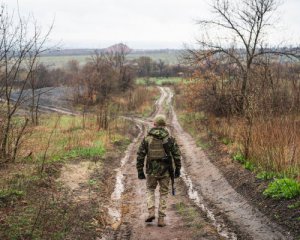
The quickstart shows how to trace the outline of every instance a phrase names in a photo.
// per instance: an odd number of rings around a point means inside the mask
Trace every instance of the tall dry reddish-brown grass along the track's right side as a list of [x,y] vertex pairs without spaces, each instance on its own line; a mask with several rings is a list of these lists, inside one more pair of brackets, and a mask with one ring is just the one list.
[[[237,152],[247,156],[242,161],[247,169],[257,173],[276,173],[300,181],[299,114],[272,117],[262,114],[254,117],[251,124],[240,116],[204,116],[201,109],[197,110],[201,107],[201,102],[196,94],[201,92],[201,88],[196,87],[197,85],[190,83],[188,86],[175,86],[176,108],[182,115],[181,123],[196,140],[197,136],[205,133],[207,136],[203,136],[204,139],[213,137],[223,143],[223,148],[231,156]],[[203,117],[199,118],[198,115]]]

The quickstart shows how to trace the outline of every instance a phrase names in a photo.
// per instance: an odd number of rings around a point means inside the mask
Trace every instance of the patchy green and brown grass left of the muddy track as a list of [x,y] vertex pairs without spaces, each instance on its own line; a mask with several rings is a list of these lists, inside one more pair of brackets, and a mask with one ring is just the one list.
[[[89,239],[96,237],[96,229],[105,223],[95,223],[102,213],[98,201],[90,199],[90,195],[94,192],[102,196],[102,191],[107,191],[102,187],[100,163],[105,153],[123,151],[130,143],[127,133],[131,123],[115,121],[112,128],[104,131],[98,130],[92,115],[85,118],[85,127],[79,116],[49,114],[41,118],[40,125],[34,127],[36,131],[24,143],[19,161],[5,169],[0,179],[0,239],[66,239],[70,234],[76,236],[76,229]],[[30,157],[21,158],[28,152]],[[92,160],[98,173],[85,183],[88,202],[78,204],[55,179],[65,162],[82,158]],[[44,171],[40,173],[42,164]]]

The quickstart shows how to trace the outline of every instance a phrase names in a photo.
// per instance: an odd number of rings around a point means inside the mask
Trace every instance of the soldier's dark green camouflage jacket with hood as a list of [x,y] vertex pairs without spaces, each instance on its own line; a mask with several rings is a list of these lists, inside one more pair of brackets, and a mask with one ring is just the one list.
[[137,152],[137,163],[136,168],[137,171],[140,172],[144,169],[144,163],[146,159],[146,173],[152,176],[165,176],[168,175],[168,171],[166,168],[168,164],[162,160],[149,160],[147,159],[148,146],[149,146],[149,137],[155,137],[158,139],[169,139],[169,150],[172,154],[174,164],[176,168],[181,168],[181,153],[179,147],[176,143],[175,138],[169,135],[169,132],[162,127],[154,127],[150,129],[147,136],[144,137],[141,142],[138,152]]

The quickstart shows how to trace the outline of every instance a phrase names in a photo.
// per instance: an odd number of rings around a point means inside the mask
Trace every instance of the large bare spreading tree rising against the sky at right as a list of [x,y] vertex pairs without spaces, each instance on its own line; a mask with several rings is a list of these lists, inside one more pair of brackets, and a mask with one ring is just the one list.
[[239,74],[238,111],[244,111],[254,65],[274,56],[299,58],[298,49],[267,46],[267,31],[278,3],[278,0],[213,0],[213,18],[199,21],[205,31],[198,40],[200,49],[189,49],[185,56],[193,64],[219,59],[231,65]]

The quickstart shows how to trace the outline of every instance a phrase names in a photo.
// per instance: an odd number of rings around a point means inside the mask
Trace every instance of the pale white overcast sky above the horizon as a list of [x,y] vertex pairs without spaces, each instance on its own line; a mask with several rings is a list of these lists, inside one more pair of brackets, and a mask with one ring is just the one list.
[[[1,1],[1,0],[0,0]],[[209,0],[2,0],[21,15],[51,25],[64,48],[103,48],[124,42],[135,49],[182,48],[200,36],[196,20],[209,17]],[[284,0],[274,43],[300,43],[300,0]]]

